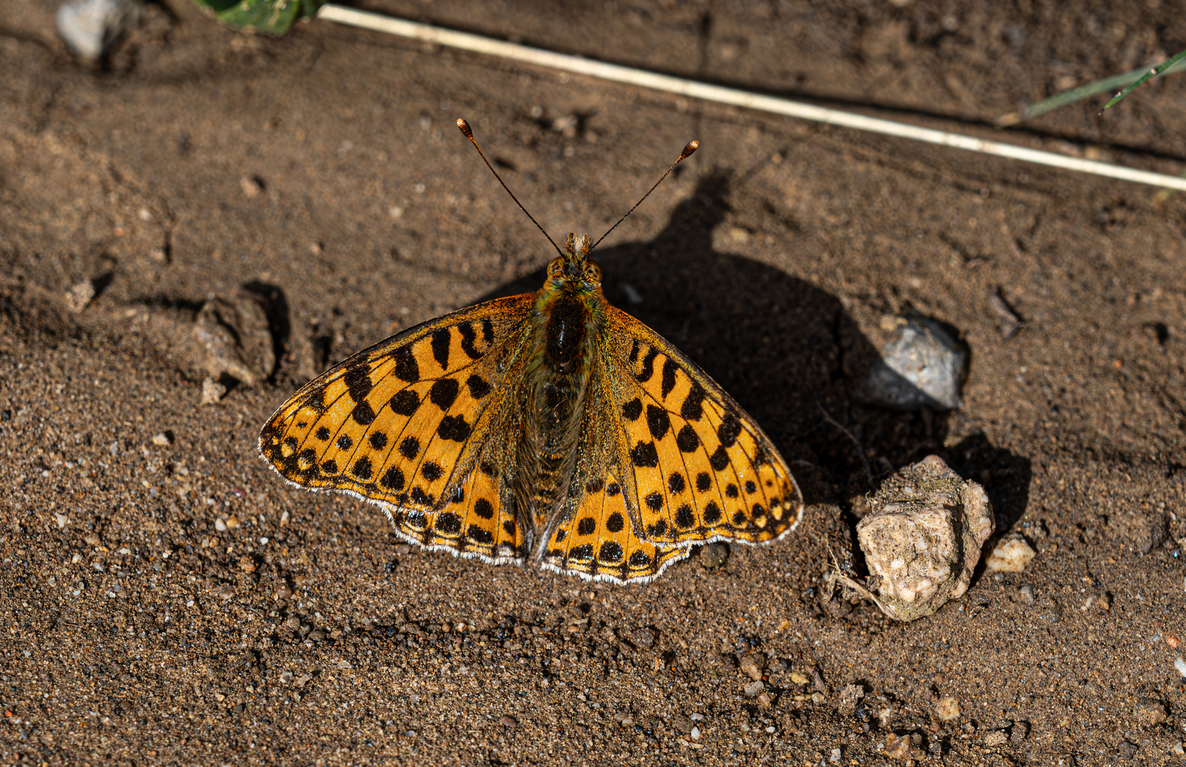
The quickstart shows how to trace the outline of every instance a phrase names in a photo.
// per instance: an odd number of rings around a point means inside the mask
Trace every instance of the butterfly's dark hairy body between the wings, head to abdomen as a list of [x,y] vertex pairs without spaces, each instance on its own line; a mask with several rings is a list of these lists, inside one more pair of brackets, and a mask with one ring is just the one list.
[[523,418],[516,477],[518,506],[540,539],[573,475],[594,346],[605,331],[601,269],[588,260],[589,238],[568,236],[566,254],[548,264],[529,322]]

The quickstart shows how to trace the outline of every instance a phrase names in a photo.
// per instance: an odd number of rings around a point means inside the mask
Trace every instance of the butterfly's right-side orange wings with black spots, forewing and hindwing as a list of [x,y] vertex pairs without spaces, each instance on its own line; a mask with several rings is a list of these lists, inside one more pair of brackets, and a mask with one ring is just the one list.
[[543,564],[649,581],[690,547],[793,530],[803,497],[761,428],[675,346],[607,311],[584,454]]

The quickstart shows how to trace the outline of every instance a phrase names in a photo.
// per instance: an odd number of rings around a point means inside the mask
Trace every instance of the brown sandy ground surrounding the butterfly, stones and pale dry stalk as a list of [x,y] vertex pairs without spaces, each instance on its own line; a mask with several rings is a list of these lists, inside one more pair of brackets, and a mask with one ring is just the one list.
[[[370,7],[986,136],[1186,46],[1166,0]],[[5,763],[860,765],[892,735],[926,763],[1182,763],[1181,194],[327,23],[255,39],[186,2],[152,6],[91,69],[56,41],[52,2],[11,8]],[[1186,78],[1096,108],[1008,138],[1182,171]],[[606,241],[607,295],[793,461],[799,531],[592,586],[401,545],[374,507],[256,456],[326,364],[540,285],[549,248],[459,116],[560,236],[599,235],[700,139]],[[83,281],[97,295],[75,312]],[[280,363],[199,405],[198,311],[236,290],[267,307]],[[1024,320],[1008,339],[994,295]],[[907,312],[968,345],[963,408],[854,395]],[[821,408],[879,475],[937,453],[982,482],[1037,557],[908,625],[821,599],[872,491]],[[745,689],[754,658],[765,697]]]

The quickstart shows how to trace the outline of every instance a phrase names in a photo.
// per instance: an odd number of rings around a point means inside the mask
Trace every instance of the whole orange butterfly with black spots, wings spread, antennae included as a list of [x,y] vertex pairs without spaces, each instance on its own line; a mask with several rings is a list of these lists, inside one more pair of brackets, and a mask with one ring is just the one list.
[[568,235],[536,293],[339,363],[276,410],[260,453],[300,487],[378,505],[426,549],[587,580],[648,582],[694,545],[793,530],[786,461],[694,362],[606,302],[593,247]]

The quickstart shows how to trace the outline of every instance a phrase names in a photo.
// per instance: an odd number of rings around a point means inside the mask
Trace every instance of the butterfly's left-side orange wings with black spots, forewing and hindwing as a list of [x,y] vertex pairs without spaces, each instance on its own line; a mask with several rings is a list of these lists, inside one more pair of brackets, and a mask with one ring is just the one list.
[[530,295],[489,301],[371,346],[272,416],[260,452],[285,479],[380,505],[429,548],[518,562],[511,417]]

